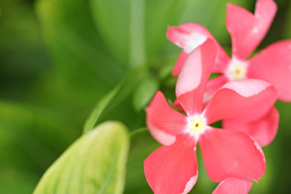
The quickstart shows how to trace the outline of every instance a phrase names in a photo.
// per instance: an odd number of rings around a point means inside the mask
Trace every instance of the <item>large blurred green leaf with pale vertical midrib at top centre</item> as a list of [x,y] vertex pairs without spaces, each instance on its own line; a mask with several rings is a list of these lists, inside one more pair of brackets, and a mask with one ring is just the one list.
[[90,0],[106,46],[121,62],[145,65],[166,48],[166,30],[180,18],[187,0]]

